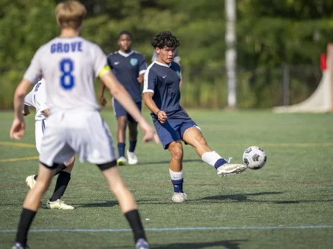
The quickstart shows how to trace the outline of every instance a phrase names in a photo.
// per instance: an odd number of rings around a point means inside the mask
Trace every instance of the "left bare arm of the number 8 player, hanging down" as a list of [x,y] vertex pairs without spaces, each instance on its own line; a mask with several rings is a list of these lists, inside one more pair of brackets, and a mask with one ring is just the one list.
[[31,82],[23,79],[21,83],[17,86],[14,95],[14,121],[12,122],[12,127],[10,129],[10,138],[20,140],[24,136],[24,118],[23,118],[23,101],[26,92],[28,91]]

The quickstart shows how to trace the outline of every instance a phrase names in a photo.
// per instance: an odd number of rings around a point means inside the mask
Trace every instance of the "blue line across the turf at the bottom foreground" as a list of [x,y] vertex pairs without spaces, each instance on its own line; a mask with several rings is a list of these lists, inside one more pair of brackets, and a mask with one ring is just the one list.
[[[333,225],[300,225],[300,226],[267,226],[267,227],[206,227],[206,228],[146,228],[146,231],[202,231],[202,230],[270,230],[270,229],[318,229],[333,228]],[[32,229],[29,232],[130,232],[129,228],[121,229]],[[0,232],[16,232],[16,230],[0,230]]]

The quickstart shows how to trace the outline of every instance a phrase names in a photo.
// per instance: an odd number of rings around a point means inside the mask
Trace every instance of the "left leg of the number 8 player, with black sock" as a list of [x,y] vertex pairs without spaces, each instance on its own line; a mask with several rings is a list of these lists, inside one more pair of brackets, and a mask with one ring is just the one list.
[[38,181],[35,187],[28,192],[26,199],[24,200],[15,243],[12,246],[14,249],[26,248],[28,230],[38,210],[43,194],[49,188],[51,179],[54,175],[54,169],[50,169],[40,163],[38,174]]

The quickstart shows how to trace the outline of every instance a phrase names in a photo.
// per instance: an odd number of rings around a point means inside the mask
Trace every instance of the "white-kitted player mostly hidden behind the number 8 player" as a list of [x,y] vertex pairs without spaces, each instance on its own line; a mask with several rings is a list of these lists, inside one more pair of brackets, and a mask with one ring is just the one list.
[[[30,113],[28,107],[35,107],[35,141],[36,149],[40,153],[40,147],[42,145],[42,138],[44,131],[47,127],[47,116],[49,116],[49,107],[47,105],[45,80],[41,79],[35,84],[33,90],[24,98],[24,116]],[[56,187],[50,199],[47,200],[46,208],[59,209],[59,210],[74,210],[74,207],[67,205],[61,200],[64,195],[67,185],[71,180],[71,170],[74,167],[74,156],[67,163],[63,163],[60,167],[55,169],[55,176],[59,174],[57,178]],[[38,175],[28,176],[26,178],[26,184],[28,187],[35,187]]]

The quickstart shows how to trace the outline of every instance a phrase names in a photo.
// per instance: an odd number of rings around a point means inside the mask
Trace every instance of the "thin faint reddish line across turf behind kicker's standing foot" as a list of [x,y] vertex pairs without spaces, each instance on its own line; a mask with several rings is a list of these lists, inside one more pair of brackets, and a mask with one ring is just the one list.
[[[333,182],[322,183],[185,183],[186,186],[214,186],[214,185],[332,185]],[[127,186],[171,186],[172,183],[126,183]],[[55,186],[55,185],[51,185]],[[0,187],[26,187],[26,185],[0,185]],[[96,184],[71,184],[71,187],[108,187],[105,183]]]

